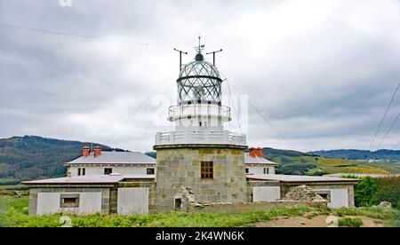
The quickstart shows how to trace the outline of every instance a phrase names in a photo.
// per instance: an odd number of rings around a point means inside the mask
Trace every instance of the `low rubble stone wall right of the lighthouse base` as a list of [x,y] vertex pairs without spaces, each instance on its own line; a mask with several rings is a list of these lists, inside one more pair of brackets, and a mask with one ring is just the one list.
[[211,204],[204,205],[201,210],[212,213],[244,213],[254,210],[269,210],[273,208],[289,208],[293,206],[319,206],[326,207],[326,202],[297,202],[297,201],[276,201],[276,202],[249,202],[234,204]]

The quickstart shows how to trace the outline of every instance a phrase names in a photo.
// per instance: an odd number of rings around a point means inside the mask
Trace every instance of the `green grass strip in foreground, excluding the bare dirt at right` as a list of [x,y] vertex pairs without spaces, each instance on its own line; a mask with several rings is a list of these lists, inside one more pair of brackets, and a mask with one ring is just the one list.
[[[272,217],[302,216],[313,207],[295,206],[268,211],[250,211],[244,214],[171,212],[154,215],[121,216],[115,214],[68,215],[74,227],[238,227],[267,222]],[[62,214],[28,216],[25,209],[12,207],[4,215],[5,224],[16,227],[57,227]]]

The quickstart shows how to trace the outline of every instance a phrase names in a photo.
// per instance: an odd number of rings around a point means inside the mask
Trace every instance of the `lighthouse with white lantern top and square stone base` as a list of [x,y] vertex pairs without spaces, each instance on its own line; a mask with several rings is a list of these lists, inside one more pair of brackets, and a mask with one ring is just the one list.
[[156,210],[179,209],[182,186],[196,202],[247,202],[244,168],[245,135],[224,130],[230,108],[221,103],[220,73],[196,57],[180,65],[178,101],[169,108],[175,130],[156,133]]

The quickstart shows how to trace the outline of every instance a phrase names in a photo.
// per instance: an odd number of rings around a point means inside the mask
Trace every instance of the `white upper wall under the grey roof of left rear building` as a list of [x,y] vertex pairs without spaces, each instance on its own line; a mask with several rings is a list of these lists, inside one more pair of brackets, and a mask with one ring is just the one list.
[[[120,174],[137,174],[137,175],[146,175],[148,169],[154,169],[156,172],[156,166],[154,167],[105,167],[105,166],[93,166],[93,167],[76,167],[76,166],[71,166],[69,167],[69,171],[71,173],[71,176],[77,176],[78,173],[78,168],[84,168],[85,170],[85,175],[103,175],[104,174],[104,169],[106,168],[111,168],[113,169],[114,173],[120,173]],[[81,175],[82,175],[82,170],[81,170]]]

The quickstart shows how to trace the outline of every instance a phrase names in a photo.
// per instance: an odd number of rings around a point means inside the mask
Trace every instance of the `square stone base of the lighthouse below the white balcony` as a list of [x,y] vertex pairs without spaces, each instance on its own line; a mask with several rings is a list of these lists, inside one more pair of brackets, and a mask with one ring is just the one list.
[[[175,209],[181,186],[196,201],[249,202],[244,171],[245,146],[155,146],[157,151],[156,210]],[[213,179],[202,179],[201,162],[213,162]]]

